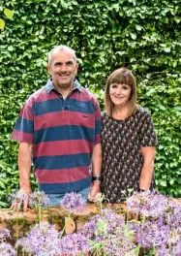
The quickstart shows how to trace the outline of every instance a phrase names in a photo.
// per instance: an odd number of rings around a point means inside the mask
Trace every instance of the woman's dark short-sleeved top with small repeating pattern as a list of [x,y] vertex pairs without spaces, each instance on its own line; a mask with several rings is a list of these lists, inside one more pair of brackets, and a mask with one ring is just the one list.
[[[119,203],[139,188],[143,165],[141,146],[156,146],[157,138],[150,114],[143,108],[125,120],[102,112],[103,178],[102,192],[110,203]],[[155,186],[154,177],[150,189]],[[128,190],[129,189],[129,190]]]

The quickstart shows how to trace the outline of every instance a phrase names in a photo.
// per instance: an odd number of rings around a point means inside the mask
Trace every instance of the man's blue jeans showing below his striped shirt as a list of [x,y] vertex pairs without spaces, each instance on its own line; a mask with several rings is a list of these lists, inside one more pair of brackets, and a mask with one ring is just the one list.
[[[90,187],[84,188],[82,190],[76,191],[76,193],[80,194],[82,198],[86,201],[88,200]],[[46,194],[49,199],[48,206],[50,207],[60,207],[61,199],[65,196],[65,194]]]

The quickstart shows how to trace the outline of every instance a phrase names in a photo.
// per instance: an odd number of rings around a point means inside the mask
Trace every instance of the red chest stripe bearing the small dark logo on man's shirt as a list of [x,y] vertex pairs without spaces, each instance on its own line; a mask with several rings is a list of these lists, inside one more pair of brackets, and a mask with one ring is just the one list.
[[95,116],[94,113],[69,111],[49,112],[35,116],[35,130],[62,125],[82,125],[84,127],[94,128]]

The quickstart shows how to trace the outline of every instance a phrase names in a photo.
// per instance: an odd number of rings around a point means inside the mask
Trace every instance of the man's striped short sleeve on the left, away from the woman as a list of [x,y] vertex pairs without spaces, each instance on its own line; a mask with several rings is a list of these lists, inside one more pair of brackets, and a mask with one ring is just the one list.
[[21,109],[15,123],[12,139],[19,143],[33,144],[34,141],[34,113],[26,103]]

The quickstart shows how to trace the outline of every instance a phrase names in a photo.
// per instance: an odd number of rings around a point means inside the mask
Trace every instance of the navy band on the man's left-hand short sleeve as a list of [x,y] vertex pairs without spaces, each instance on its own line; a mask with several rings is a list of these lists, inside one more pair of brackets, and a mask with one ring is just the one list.
[[31,120],[27,120],[18,116],[17,121],[15,123],[15,130],[20,131],[22,133],[30,133],[34,132],[34,123]]

